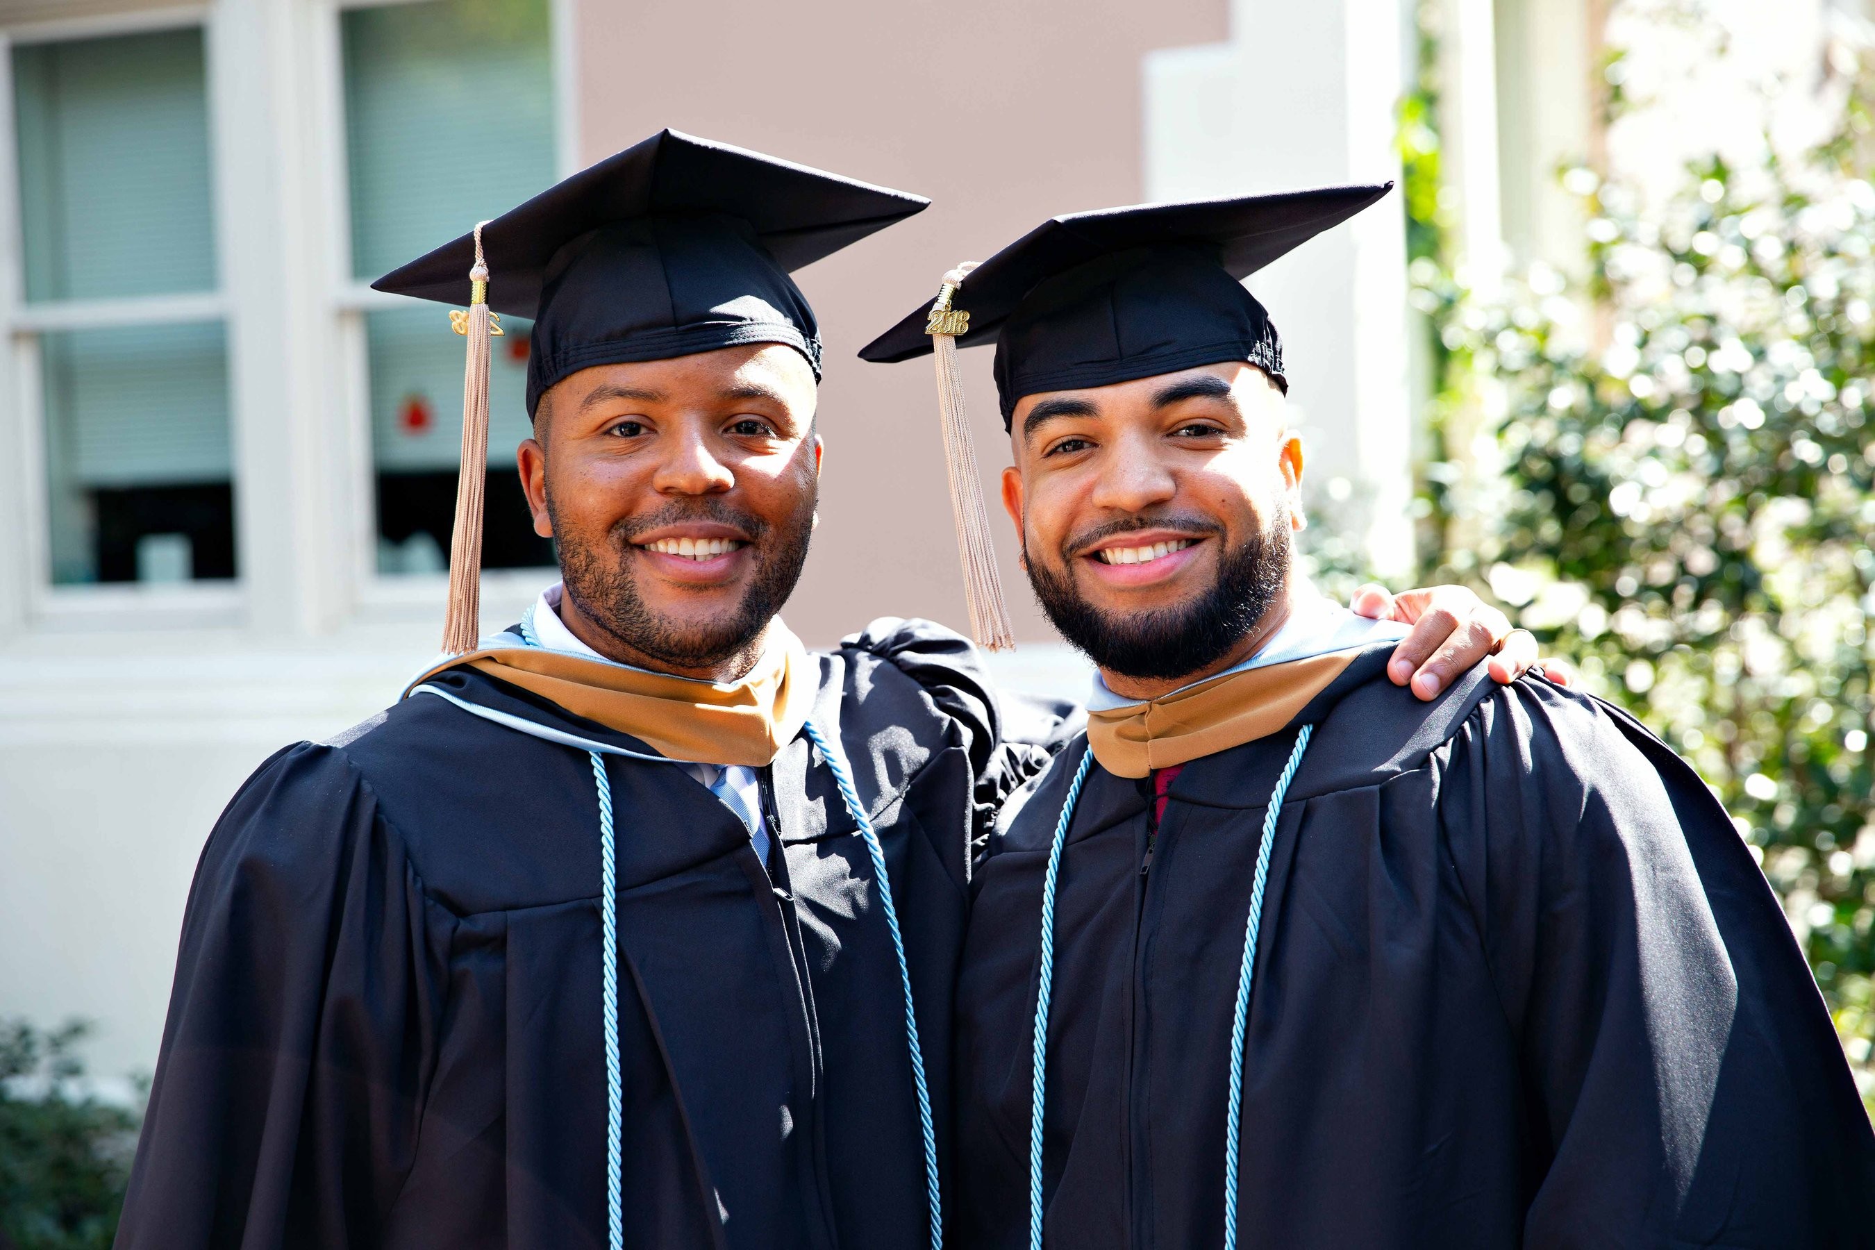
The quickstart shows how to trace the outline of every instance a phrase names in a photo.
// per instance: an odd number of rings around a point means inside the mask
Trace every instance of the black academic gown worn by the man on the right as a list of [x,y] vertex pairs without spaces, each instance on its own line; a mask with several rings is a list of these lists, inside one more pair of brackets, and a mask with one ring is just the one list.
[[[1875,1139],[1721,806],[1624,712],[1350,667],[1176,776],[1093,766],[1054,920],[1048,1246],[1222,1244],[1245,915],[1282,802],[1243,1061],[1239,1244],[1869,1246]],[[962,1246],[1028,1244],[1039,900],[1071,744],[1009,804],[958,990]]]

